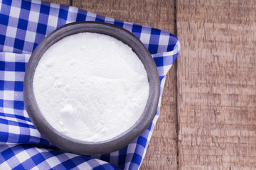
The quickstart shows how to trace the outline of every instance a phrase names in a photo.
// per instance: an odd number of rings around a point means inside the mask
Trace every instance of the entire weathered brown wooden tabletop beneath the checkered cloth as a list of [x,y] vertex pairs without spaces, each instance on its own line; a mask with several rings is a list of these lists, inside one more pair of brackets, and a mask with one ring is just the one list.
[[256,169],[254,0],[48,1],[180,38],[141,169]]

